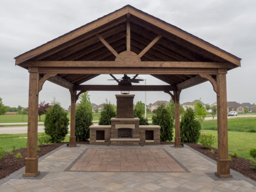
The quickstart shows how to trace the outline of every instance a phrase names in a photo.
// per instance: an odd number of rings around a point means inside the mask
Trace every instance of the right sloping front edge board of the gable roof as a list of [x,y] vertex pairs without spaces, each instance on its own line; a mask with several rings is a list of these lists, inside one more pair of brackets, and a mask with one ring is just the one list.
[[139,17],[142,20],[145,20],[148,23],[153,24],[154,26],[159,27],[160,29],[163,29],[169,33],[172,33],[181,39],[184,39],[198,47],[201,47],[202,49],[205,49],[208,52],[213,53],[214,55],[218,55],[219,57],[224,58],[225,60],[230,61],[233,64],[236,64],[237,66],[241,66],[240,59],[224,52],[221,49],[218,49],[217,47],[214,47],[213,45],[211,45],[205,41],[202,41],[199,38],[196,38],[195,36],[185,32],[185,31],[182,31],[181,29],[178,29],[174,26],[168,25],[164,22],[161,22],[160,20],[157,20],[154,17],[145,15],[144,13],[138,12],[137,10],[132,9],[132,8],[129,8],[129,13],[131,13],[131,15]]

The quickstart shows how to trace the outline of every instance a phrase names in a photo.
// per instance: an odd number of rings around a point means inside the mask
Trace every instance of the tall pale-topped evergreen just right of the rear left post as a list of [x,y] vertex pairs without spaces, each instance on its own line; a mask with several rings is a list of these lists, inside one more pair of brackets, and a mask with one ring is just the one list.
[[86,141],[90,138],[89,126],[93,124],[92,104],[89,91],[80,95],[80,104],[76,108],[76,140]]

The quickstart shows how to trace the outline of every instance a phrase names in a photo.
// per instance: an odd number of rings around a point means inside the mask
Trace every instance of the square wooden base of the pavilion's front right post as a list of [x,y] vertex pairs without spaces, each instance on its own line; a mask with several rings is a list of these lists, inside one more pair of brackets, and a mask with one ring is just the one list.
[[219,159],[216,158],[217,161],[217,172],[215,172],[215,175],[220,178],[229,178],[233,177],[233,175],[230,174],[230,159]]

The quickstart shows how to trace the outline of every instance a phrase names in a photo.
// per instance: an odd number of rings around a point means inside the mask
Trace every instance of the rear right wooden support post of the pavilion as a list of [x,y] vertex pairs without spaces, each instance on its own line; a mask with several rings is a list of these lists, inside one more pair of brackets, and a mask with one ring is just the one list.
[[181,146],[180,137],[180,91],[174,91],[174,105],[175,105],[175,144],[174,147]]

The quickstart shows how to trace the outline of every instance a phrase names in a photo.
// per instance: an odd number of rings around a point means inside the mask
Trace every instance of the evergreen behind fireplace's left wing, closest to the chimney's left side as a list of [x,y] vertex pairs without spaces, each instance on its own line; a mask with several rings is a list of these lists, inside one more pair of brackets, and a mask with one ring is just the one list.
[[111,102],[104,104],[104,108],[99,116],[99,125],[111,125],[111,118],[116,117],[116,111],[114,110],[114,105]]

